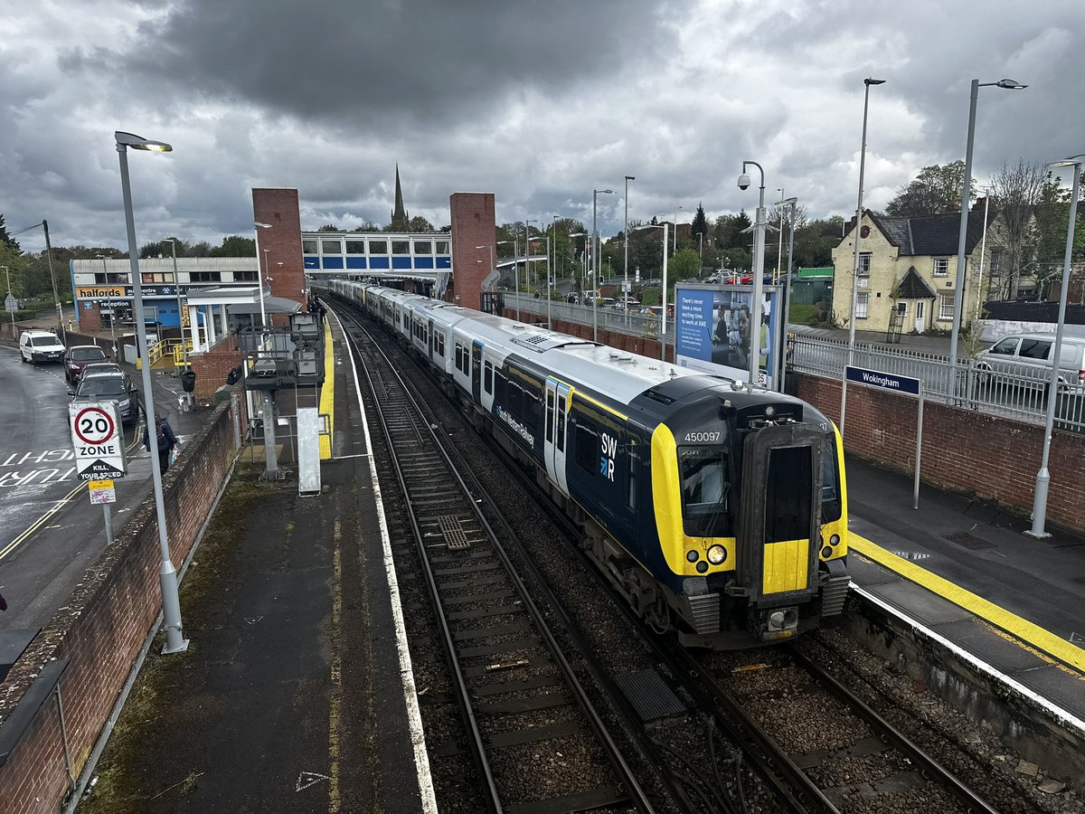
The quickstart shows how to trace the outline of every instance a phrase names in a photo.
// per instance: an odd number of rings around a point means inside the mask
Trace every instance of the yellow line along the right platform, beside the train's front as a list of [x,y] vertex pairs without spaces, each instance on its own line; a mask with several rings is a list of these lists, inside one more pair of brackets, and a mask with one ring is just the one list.
[[886,551],[877,543],[871,543],[855,532],[848,534],[848,546],[864,557],[868,557],[880,565],[884,565],[890,571],[895,571],[906,580],[921,585],[928,590],[937,594],[943,599],[947,599],[980,619],[1001,628],[1026,645],[1031,645],[1054,659],[1085,672],[1085,650],[1070,644],[1065,639],[1059,638],[1049,631],[1045,631],[1039,625],[1021,619],[1021,616],[1010,613],[1005,608],[999,608],[994,602],[987,601],[983,597],[976,596],[959,585],[954,585],[948,580],[931,573],[927,569],[920,568],[903,557],[897,557],[892,551]]

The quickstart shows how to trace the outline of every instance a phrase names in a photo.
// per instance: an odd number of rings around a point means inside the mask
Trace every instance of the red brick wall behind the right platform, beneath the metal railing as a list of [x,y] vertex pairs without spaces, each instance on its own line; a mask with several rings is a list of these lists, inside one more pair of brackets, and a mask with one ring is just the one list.
[[[839,381],[809,373],[789,377],[799,397],[840,424]],[[915,471],[918,402],[848,385],[844,446],[901,472]],[[1031,513],[1044,428],[942,404],[923,405],[922,479]],[[1047,518],[1085,531],[1085,435],[1055,430],[1048,463]]]

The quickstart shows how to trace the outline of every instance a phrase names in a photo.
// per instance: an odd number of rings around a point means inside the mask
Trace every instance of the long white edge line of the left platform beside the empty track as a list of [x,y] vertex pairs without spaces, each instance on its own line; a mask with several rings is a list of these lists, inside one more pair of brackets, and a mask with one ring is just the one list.
[[[339,315],[328,309],[335,317],[340,330],[343,323]],[[343,331],[346,335],[346,331]],[[349,353],[349,345],[348,351]],[[361,412],[361,429],[366,436],[366,448],[372,449],[372,438],[369,434],[369,419],[366,417],[366,405],[361,400],[361,384],[358,382],[358,366],[354,354],[349,353],[350,370],[354,371],[354,392],[358,397],[358,410]],[[418,791],[421,797],[422,811],[425,814],[437,814],[437,797],[433,790],[433,775],[430,774],[430,756],[425,750],[425,732],[422,728],[422,713],[418,707],[418,692],[414,688],[414,670],[410,661],[410,648],[407,646],[407,629],[404,626],[404,611],[399,602],[399,582],[396,580],[396,563],[392,557],[392,539],[388,537],[388,524],[384,517],[384,501],[381,497],[381,483],[376,478],[376,467],[370,467],[373,481],[373,498],[376,501],[376,523],[381,530],[381,547],[384,550],[384,573],[388,580],[388,593],[392,597],[392,619],[396,628],[396,650],[399,652],[399,675],[404,684],[404,700],[407,703],[407,726],[410,729],[411,742],[414,745],[414,766],[418,768]]]

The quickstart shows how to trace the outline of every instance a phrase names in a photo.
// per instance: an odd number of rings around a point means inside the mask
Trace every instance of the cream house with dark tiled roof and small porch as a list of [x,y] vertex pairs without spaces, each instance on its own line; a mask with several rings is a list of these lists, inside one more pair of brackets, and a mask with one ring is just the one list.
[[[962,325],[976,314],[983,206],[968,216],[965,236],[965,292]],[[994,218],[994,212],[990,219]],[[889,331],[895,321],[903,333],[923,333],[953,326],[957,291],[957,242],[960,215],[888,217],[869,209],[859,225],[858,296],[855,327],[860,331]],[[852,269],[855,263],[855,218],[832,250],[835,269],[832,309],[847,326],[852,317]],[[895,317],[895,320],[894,320]]]

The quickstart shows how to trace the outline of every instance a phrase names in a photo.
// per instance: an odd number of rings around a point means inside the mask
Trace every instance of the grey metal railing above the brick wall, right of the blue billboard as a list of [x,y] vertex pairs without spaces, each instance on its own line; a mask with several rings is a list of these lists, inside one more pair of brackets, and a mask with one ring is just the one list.
[[[820,336],[793,335],[789,360],[793,370],[842,379],[847,365],[847,342]],[[1042,367],[993,370],[975,359],[954,367],[944,354],[908,351],[857,342],[852,365],[884,373],[907,376],[923,382],[931,399],[963,409],[1012,418],[1032,424],[1047,419],[1050,371]],[[1055,427],[1085,432],[1085,385],[1069,380],[1060,385],[1055,403]]]

